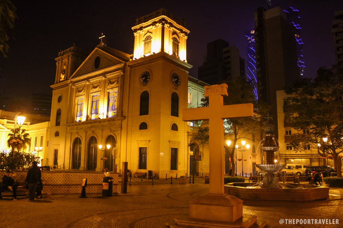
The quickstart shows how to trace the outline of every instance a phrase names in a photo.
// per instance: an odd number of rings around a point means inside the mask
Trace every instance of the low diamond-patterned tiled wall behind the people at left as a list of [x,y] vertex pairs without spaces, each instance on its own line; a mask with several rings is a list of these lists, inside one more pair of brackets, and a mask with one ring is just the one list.
[[[27,171],[14,171],[15,181],[24,181]],[[2,181],[5,171],[0,171]],[[87,178],[86,193],[102,193],[102,182],[104,173],[99,172],[80,172],[80,171],[42,171],[42,180],[44,180],[44,194],[81,194],[81,183]],[[118,193],[118,173],[110,173],[113,177],[113,193]],[[18,192],[19,193],[19,192]],[[11,192],[3,192],[3,195],[12,195]]]

